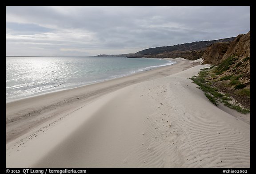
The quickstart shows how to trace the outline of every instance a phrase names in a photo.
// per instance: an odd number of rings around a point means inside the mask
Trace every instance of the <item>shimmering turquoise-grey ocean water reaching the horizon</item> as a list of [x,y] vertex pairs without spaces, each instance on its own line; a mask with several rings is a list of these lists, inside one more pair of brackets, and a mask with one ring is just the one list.
[[6,101],[176,63],[155,58],[6,57]]

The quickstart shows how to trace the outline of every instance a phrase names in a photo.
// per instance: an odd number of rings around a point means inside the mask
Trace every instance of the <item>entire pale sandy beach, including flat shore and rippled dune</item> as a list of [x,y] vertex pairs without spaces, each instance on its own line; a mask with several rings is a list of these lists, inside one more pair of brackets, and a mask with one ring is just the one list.
[[192,83],[210,65],[172,60],[6,103],[6,168],[250,168],[250,114]]

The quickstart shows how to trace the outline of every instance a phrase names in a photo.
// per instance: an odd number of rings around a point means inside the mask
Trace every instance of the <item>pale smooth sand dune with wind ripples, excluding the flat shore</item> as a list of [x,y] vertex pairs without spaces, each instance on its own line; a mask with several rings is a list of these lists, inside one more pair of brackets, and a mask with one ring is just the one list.
[[6,167],[249,168],[250,125],[217,108],[189,77],[199,65],[108,93],[25,144]]

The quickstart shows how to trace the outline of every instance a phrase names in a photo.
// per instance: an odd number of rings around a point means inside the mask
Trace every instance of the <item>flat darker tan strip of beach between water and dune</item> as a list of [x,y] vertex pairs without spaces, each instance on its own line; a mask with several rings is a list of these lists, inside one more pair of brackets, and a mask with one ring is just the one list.
[[[54,91],[7,102],[6,143],[32,130],[32,128],[35,128],[39,124],[52,119],[56,115],[60,115],[59,111],[54,111],[55,108],[62,108],[61,112],[68,112],[68,110],[72,110],[74,107],[78,107],[78,105],[85,104],[101,95],[127,85],[168,76],[198,65],[198,63],[183,58],[166,59],[176,61],[176,63],[90,85],[83,85],[72,89]],[[184,67],[180,69],[180,66]],[[31,119],[32,123],[30,123]]]

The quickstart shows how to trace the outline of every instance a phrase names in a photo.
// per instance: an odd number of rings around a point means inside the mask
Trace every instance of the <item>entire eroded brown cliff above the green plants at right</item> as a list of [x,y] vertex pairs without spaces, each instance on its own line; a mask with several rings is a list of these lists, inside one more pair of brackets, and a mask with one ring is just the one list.
[[220,74],[224,76],[237,76],[244,85],[250,85],[251,77],[251,33],[238,35],[232,43],[215,43],[208,46],[203,55],[202,64],[221,65],[227,63],[225,71]]

